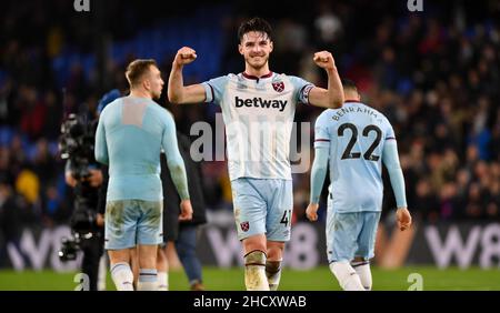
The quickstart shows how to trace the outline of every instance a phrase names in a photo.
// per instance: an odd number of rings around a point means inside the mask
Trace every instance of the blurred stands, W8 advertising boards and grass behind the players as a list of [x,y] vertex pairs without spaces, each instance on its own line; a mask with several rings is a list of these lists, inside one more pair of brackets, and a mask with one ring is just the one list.
[[[422,2],[423,11],[411,12],[407,0],[90,0],[90,12],[77,12],[70,0],[2,1],[0,290],[76,285],[81,259],[62,263],[57,255],[73,200],[58,152],[63,111],[96,110],[106,91],[124,91],[124,68],[134,58],[154,58],[167,79],[182,46],[198,52],[184,69],[188,83],[241,72],[237,28],[253,16],[274,28],[271,70],[324,85],[311,57],[330,50],[341,77],[354,80],[364,102],[394,127],[416,224],[410,232],[393,231],[387,184],[374,290],[408,290],[418,281],[412,273],[421,275],[423,290],[500,290],[500,1]],[[196,121],[216,123],[216,105],[166,107],[186,134]],[[314,122],[320,112],[301,105],[296,120]],[[204,283],[242,290],[226,162],[203,162],[202,169],[209,212],[199,240]],[[306,222],[309,175],[293,180],[282,286],[338,290],[326,266],[324,225]],[[172,264],[171,289],[187,290]]]

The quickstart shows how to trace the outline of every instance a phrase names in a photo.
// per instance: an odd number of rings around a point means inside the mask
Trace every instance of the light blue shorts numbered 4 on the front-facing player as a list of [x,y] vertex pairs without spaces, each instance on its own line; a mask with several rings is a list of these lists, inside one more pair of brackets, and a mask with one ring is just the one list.
[[266,234],[289,241],[293,209],[292,181],[241,178],[231,181],[238,239]]

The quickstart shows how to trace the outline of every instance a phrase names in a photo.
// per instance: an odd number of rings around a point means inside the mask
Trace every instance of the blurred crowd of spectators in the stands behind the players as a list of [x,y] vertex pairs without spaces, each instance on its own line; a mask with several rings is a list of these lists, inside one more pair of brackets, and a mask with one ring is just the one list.
[[[68,222],[72,198],[58,152],[60,124],[63,112],[78,112],[82,105],[94,111],[103,91],[94,72],[73,62],[61,92],[54,58],[63,50],[91,52],[92,39],[91,20],[64,14],[66,2],[7,1],[0,13],[0,229],[9,239],[22,225]],[[407,1],[400,2],[314,1],[306,11],[290,4],[266,13],[250,2],[224,4],[232,14],[220,22],[227,34],[220,74],[242,70],[234,50],[241,19],[253,13],[269,18],[274,27],[273,69],[324,85],[312,53],[330,50],[341,77],[356,81],[363,101],[389,118],[414,215],[429,222],[500,220],[500,6],[426,2],[423,12],[409,12]],[[113,39],[127,40],[162,19],[159,12],[139,10],[136,2],[127,3],[128,9],[118,1],[108,6],[131,17],[123,27],[109,26]],[[301,14],[290,18],[290,12]],[[164,75],[170,57],[158,60]],[[107,61],[107,87],[124,91],[126,64]],[[187,134],[196,121],[214,124],[213,107],[167,104]],[[311,122],[311,139],[320,112],[297,108],[296,120]],[[306,149],[312,155],[312,145]],[[203,162],[209,209],[231,209],[226,166]],[[294,216],[303,220],[309,174],[294,174],[293,180]],[[384,205],[393,208],[387,195]]]

